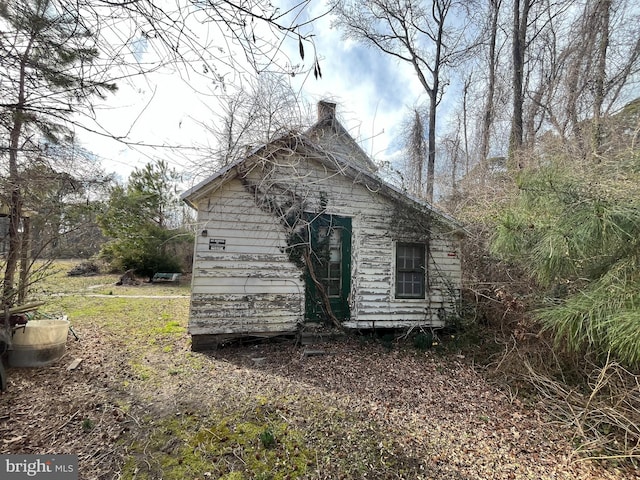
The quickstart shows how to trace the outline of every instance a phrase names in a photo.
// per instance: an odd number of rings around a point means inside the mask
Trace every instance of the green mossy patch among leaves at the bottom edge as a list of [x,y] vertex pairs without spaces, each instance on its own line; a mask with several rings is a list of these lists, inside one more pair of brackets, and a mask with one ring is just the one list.
[[[265,432],[272,439],[265,445]],[[275,441],[275,438],[278,441]],[[162,418],[128,448],[122,478],[302,478],[312,452],[282,419],[183,415]]]

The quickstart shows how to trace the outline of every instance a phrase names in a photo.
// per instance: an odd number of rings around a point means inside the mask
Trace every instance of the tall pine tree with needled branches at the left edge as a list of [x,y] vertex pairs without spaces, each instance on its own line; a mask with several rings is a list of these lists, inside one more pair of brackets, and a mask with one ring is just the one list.
[[0,305],[6,312],[24,302],[32,283],[31,217],[53,231],[54,241],[72,217],[91,214],[71,205],[84,189],[76,175],[90,163],[73,153],[73,119],[116,86],[98,66],[93,25],[78,10],[52,0],[2,2],[0,30]]

